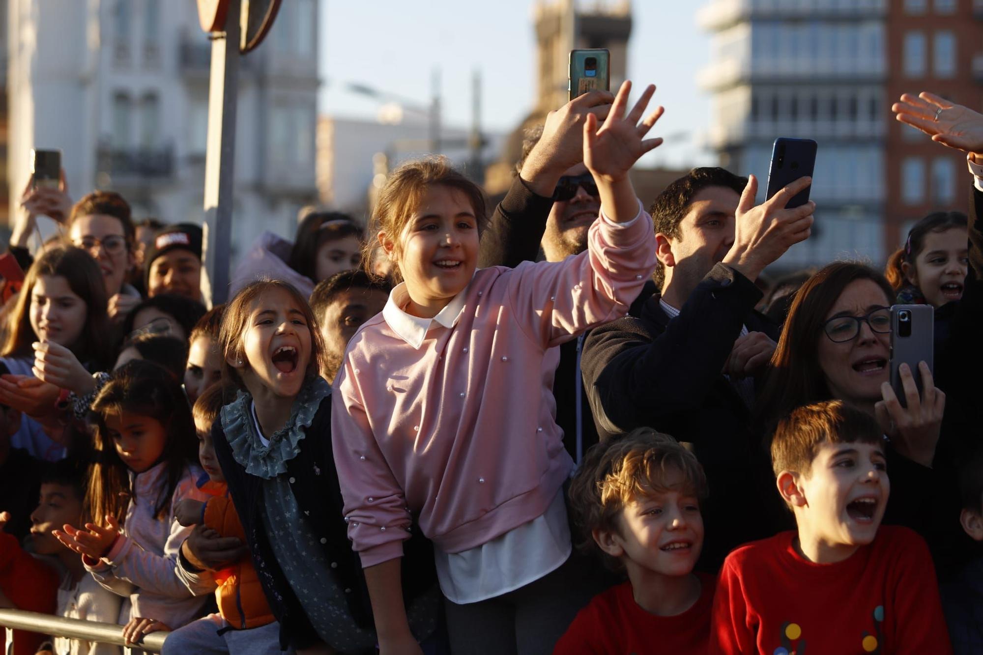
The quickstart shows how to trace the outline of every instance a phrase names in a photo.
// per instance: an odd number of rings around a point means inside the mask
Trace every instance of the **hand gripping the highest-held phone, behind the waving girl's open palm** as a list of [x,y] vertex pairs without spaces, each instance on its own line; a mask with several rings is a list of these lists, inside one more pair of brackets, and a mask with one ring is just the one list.
[[584,159],[584,121],[588,114],[607,118],[614,95],[595,90],[578,95],[559,109],[550,111],[543,136],[529,152],[519,176],[541,196],[551,196],[556,181],[571,166]]

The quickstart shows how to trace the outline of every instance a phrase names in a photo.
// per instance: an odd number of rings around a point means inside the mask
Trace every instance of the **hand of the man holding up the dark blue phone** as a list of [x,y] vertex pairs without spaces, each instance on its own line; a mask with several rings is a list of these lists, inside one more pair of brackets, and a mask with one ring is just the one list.
[[792,209],[786,209],[785,205],[810,184],[812,178],[800,177],[770,200],[755,206],[758,178],[748,176],[747,186],[737,205],[734,244],[723,258],[723,264],[754,280],[791,246],[808,239],[812,233],[812,212],[816,204],[809,201]]

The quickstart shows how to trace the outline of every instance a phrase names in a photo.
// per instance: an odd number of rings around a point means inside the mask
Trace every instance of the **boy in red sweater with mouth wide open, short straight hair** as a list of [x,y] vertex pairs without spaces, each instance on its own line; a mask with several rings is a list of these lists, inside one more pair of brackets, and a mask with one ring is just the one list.
[[799,407],[772,464],[798,529],[727,556],[710,652],[952,653],[928,547],[880,525],[891,485],[875,419],[839,401]]

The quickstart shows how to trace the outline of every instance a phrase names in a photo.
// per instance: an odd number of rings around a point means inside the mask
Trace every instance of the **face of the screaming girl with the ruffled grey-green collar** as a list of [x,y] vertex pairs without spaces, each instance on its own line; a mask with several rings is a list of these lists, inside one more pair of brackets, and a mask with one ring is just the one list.
[[[253,301],[242,338],[248,367],[243,380],[274,395],[297,395],[311,362],[311,327],[303,308],[283,289],[271,288]],[[234,360],[234,357],[233,357]],[[230,365],[237,366],[236,361]],[[256,395],[256,393],[253,393]]]

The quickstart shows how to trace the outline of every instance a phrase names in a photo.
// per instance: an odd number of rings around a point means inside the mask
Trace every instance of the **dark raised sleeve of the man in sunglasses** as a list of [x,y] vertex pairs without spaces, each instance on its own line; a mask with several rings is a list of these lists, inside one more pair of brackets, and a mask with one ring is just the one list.
[[516,175],[482,235],[478,266],[515,268],[522,262],[535,262],[550,208],[551,198],[533,193]]

